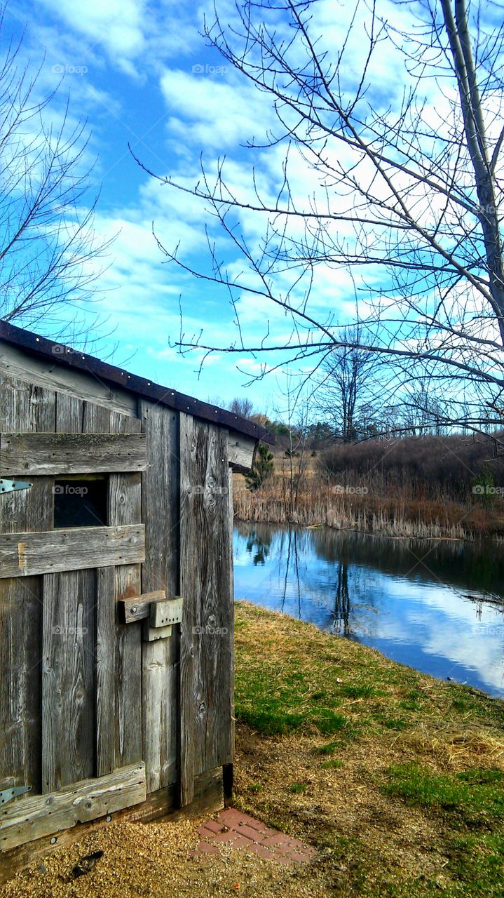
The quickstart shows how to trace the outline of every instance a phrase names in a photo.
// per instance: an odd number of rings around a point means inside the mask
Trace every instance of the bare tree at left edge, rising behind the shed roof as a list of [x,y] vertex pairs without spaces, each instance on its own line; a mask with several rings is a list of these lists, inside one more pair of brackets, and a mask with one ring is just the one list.
[[86,206],[85,126],[68,102],[56,114],[54,93],[40,99],[40,68],[30,75],[21,55],[11,43],[0,61],[0,317],[64,334],[93,296],[109,242],[93,231],[96,198]]

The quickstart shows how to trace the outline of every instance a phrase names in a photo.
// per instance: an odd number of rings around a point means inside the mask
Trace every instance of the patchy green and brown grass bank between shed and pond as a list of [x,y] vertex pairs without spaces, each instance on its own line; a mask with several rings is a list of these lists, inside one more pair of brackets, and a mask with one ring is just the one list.
[[236,650],[236,801],[317,848],[311,894],[501,894],[504,702],[248,603]]

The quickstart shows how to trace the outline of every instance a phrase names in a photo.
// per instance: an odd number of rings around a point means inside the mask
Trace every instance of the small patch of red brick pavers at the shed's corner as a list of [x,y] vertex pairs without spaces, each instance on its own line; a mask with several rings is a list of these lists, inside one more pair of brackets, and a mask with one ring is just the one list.
[[242,814],[234,807],[227,807],[217,820],[203,823],[198,830],[201,841],[196,855],[217,854],[219,845],[226,842],[231,850],[242,849],[259,858],[276,860],[281,864],[295,861],[306,863],[316,857],[317,851],[307,848],[299,839],[292,839],[284,832],[272,830],[260,820]]

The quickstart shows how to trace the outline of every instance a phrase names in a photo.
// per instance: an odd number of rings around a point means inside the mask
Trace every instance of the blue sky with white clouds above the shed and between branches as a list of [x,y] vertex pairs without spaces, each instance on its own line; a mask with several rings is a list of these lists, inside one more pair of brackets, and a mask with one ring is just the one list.
[[[232,0],[218,0],[217,6],[222,22],[236,25]],[[394,0],[380,0],[379,4],[380,14],[405,33],[412,30],[415,8],[418,13],[421,4],[396,4]],[[359,84],[369,48],[363,39],[369,29],[368,7],[361,3],[357,10],[341,70],[343,88],[349,88],[349,95]],[[334,56],[342,46],[353,13],[354,4],[346,0],[319,0],[310,7],[310,33],[321,35],[322,54],[327,49]],[[110,339],[102,339],[100,355],[108,356],[117,344],[114,360],[135,373],[212,401],[228,402],[247,394],[256,409],[284,413],[284,374],[272,374],[245,390],[243,384],[260,371],[257,358],[245,353],[232,357],[215,354],[199,374],[203,353],[180,357],[170,345],[178,339],[180,301],[186,339],[203,328],[205,343],[230,346],[238,330],[224,292],[188,276],[173,264],[163,264],[152,236],[152,222],[163,245],[171,251],[180,244],[181,257],[196,269],[204,269],[208,258],[205,225],[231,275],[236,276],[243,268],[243,260],[230,253],[222,232],[204,214],[200,202],[149,177],[128,151],[129,143],[147,168],[187,188],[201,177],[201,156],[206,172],[211,174],[217,160],[225,156],[226,180],[239,198],[250,196],[254,165],[262,196],[274,203],[282,184],[285,145],[254,151],[245,146],[253,140],[264,142],[267,132],[275,130],[271,100],[206,46],[200,33],[204,16],[213,21],[213,0],[197,5],[175,0],[87,0],[85,4],[74,0],[38,0],[35,4],[12,0],[4,31],[11,29],[14,35],[20,35],[25,30],[24,60],[34,70],[42,62],[39,91],[44,94],[57,88],[47,115],[57,121],[69,94],[71,118],[85,117],[91,128],[88,158],[90,162],[97,158],[94,178],[101,187],[96,227],[106,239],[117,234],[109,268],[99,283],[103,298],[98,308],[108,320],[105,332],[114,331]],[[275,27],[281,36],[291,36],[282,18]],[[296,46],[291,52],[296,54]],[[299,62],[300,57],[295,57],[294,65]],[[390,46],[384,50],[378,45],[368,71],[367,98],[373,108],[384,115],[389,108],[397,109],[407,78],[404,57],[391,53]],[[450,95],[446,84],[441,89],[433,79],[425,84],[428,95],[424,118],[436,135],[437,128],[450,117],[453,85]],[[330,158],[341,161],[343,167],[351,163],[347,147],[336,144],[331,152]],[[372,182],[373,172],[366,166],[363,161],[360,177]],[[324,182],[296,151],[290,157],[289,173],[291,196],[298,208],[309,207],[314,196],[318,201],[322,197],[324,203]],[[344,191],[342,197],[346,206]],[[428,221],[429,198],[421,196],[420,201],[423,212],[419,214],[427,216]],[[252,213],[240,216],[241,233],[254,248],[264,225],[264,219]],[[352,225],[346,233],[341,222],[335,226],[338,241],[355,240]],[[302,229],[303,222],[297,219],[291,233],[302,238]],[[309,312],[317,321],[325,321],[328,314],[333,323],[352,321],[355,296],[359,295],[362,313],[368,288],[384,286],[380,278],[382,272],[366,270],[365,266],[352,273],[334,265],[320,266]],[[277,274],[276,283],[280,291],[287,290],[288,273]],[[393,292],[387,302],[394,319]],[[250,293],[239,295],[238,304],[248,345],[259,345],[266,330],[276,345],[289,340],[291,323],[278,307]],[[407,330],[404,334],[397,330],[396,336],[407,343]],[[267,359],[269,365],[278,361],[274,355]],[[316,364],[306,361],[298,370],[300,379],[310,374],[310,365]]]

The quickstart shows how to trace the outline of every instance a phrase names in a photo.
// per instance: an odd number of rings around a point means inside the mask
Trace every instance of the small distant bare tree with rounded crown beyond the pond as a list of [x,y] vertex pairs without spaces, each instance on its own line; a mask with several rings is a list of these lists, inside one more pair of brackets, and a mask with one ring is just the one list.
[[[359,328],[343,328],[346,343],[361,342]],[[369,401],[377,357],[369,349],[337,346],[322,363],[324,379],[317,391],[319,408],[335,425],[335,434],[349,443],[367,436],[360,432],[361,407]]]

